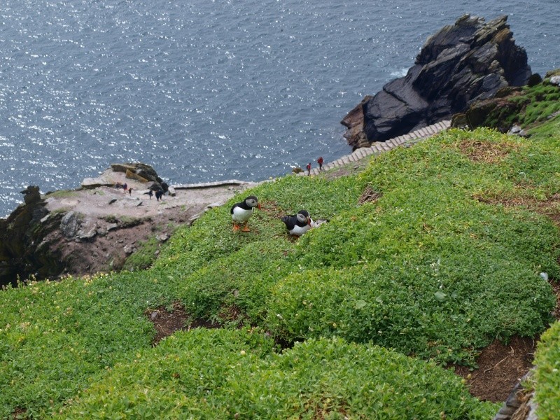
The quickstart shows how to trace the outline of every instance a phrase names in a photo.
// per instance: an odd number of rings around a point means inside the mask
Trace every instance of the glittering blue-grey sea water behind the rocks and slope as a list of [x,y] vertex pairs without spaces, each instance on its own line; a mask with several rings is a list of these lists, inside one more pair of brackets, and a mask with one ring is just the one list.
[[2,0],[0,216],[113,162],[172,184],[335,160],[346,113],[463,13],[560,66],[558,0]]

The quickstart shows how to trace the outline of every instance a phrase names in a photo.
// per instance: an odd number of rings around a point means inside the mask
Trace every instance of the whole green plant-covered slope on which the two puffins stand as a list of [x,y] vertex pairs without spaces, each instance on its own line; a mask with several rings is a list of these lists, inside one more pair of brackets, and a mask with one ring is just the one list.
[[[538,274],[559,278],[558,231],[500,202],[559,193],[559,141],[446,132],[358,176],[255,188],[251,234],[232,233],[226,205],[179,229],[145,272],[6,290],[0,416],[488,418],[495,405],[434,363],[475,363],[493,338],[550,321]],[[367,187],[381,198],[358,205]],[[293,242],[278,216],[302,207],[330,222]],[[176,300],[225,325],[235,305],[255,328],[151,347],[144,312]],[[269,335],[306,341],[279,353]]]

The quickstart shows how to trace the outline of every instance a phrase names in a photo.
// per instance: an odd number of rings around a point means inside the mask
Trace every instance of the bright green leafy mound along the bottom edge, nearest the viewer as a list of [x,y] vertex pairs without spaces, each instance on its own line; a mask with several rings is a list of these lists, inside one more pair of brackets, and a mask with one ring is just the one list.
[[258,330],[193,330],[108,371],[55,418],[487,419],[433,363],[342,339],[272,353]]

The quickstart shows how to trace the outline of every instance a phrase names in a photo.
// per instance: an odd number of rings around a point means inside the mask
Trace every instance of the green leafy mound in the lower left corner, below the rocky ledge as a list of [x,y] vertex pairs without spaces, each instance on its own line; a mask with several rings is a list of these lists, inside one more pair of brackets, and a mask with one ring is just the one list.
[[18,407],[49,418],[95,374],[151,347],[143,312],[169,302],[168,288],[131,280],[100,274],[0,292],[0,418]]

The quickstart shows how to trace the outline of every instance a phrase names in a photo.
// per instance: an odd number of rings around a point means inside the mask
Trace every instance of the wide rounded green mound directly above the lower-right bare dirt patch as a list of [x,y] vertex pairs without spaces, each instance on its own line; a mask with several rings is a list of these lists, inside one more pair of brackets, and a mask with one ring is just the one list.
[[431,256],[288,276],[272,289],[267,327],[287,342],[336,335],[472,365],[492,339],[542,330],[554,299],[536,274],[468,253]]

